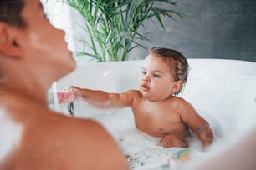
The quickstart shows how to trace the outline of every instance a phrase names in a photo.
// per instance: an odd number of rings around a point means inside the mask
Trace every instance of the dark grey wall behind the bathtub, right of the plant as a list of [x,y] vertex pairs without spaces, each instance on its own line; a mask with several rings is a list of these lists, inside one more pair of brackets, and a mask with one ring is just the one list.
[[[147,22],[154,46],[170,47],[188,58],[227,58],[256,62],[255,0],[178,0],[178,12],[187,18],[164,18],[166,32]],[[147,51],[136,48],[129,59],[143,59]]]

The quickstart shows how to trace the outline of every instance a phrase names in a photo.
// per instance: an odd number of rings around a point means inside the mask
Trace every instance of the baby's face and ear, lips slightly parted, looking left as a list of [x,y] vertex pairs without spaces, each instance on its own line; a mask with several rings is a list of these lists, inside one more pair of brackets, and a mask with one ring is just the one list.
[[145,59],[141,70],[140,91],[150,101],[161,101],[181,87],[181,81],[174,81],[172,67],[155,53]]

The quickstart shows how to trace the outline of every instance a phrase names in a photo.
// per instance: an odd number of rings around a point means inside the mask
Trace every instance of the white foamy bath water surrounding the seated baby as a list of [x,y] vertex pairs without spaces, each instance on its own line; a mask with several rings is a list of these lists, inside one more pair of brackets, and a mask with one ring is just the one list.
[[[215,140],[223,138],[226,133],[224,122],[219,123],[215,117],[202,110],[199,113],[210,123]],[[161,138],[151,137],[139,131],[135,126],[130,108],[119,109],[111,114],[101,114],[95,117],[95,120],[101,122],[114,136],[133,170],[169,169],[171,168],[170,158],[183,150],[183,148],[162,148],[158,146]],[[214,154],[212,147],[208,148],[211,152],[204,150],[195,135],[187,138],[187,142],[190,145],[188,148],[191,153],[190,158],[186,162],[172,161],[173,170],[186,169],[188,164],[196,166],[202,159],[211,158]],[[214,142],[212,145],[218,146],[218,143]]]

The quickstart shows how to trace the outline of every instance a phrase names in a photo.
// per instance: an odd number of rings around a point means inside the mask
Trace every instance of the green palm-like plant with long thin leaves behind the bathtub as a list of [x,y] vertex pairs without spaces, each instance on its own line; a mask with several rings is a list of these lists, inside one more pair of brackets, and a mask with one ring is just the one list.
[[[138,32],[146,19],[162,17],[173,19],[173,14],[184,17],[171,9],[177,2],[172,0],[65,0],[85,19],[84,31],[90,40],[82,40],[84,49],[79,56],[90,56],[97,62],[124,61],[135,47],[143,47],[141,40],[148,41],[147,33]],[[165,7],[156,7],[164,5]],[[90,49],[90,50],[89,50]]]

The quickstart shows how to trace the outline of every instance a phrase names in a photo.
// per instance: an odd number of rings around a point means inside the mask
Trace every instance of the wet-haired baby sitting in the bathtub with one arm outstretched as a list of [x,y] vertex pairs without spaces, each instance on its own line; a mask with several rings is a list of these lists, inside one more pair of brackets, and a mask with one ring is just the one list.
[[136,128],[161,138],[164,148],[187,148],[188,128],[197,135],[203,147],[212,143],[213,133],[190,103],[177,97],[187,82],[187,59],[182,53],[163,47],[153,47],[141,70],[140,90],[108,93],[87,88],[68,87],[69,98],[59,93],[59,103],[82,98],[94,107],[131,107]]

